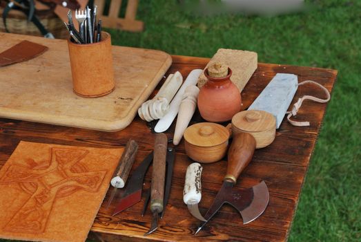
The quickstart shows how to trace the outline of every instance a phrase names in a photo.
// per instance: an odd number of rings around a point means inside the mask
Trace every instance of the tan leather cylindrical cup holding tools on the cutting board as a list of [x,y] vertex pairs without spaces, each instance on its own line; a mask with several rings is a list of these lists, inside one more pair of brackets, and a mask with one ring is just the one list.
[[101,32],[101,41],[76,44],[68,40],[72,87],[81,97],[101,97],[114,90],[110,34]]

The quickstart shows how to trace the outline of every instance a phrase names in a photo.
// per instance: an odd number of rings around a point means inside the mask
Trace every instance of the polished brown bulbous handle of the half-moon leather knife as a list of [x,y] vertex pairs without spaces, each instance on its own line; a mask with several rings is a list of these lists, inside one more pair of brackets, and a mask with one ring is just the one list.
[[228,167],[224,180],[236,183],[238,176],[251,162],[255,151],[255,138],[249,133],[237,133],[228,149]]

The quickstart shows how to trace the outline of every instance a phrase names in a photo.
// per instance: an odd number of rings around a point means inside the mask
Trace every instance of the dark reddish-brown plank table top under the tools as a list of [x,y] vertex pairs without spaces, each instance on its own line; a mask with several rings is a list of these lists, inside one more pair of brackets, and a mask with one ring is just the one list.
[[[204,68],[209,59],[173,55],[173,65],[168,73],[180,71],[184,77],[194,68]],[[293,73],[299,82],[314,80],[331,91],[337,71],[322,68],[259,64],[257,71],[242,92],[243,109],[255,100],[275,73]],[[159,86],[157,87],[159,89]],[[154,95],[154,93],[153,93]],[[323,96],[313,86],[298,88],[293,102],[302,95]],[[106,201],[101,206],[89,237],[99,241],[285,241],[289,234],[298,199],[309,167],[311,154],[320,131],[327,104],[304,102],[297,114],[299,120],[309,120],[310,127],[293,127],[282,122],[277,130],[275,141],[264,149],[255,151],[253,161],[241,174],[236,187],[251,187],[264,180],[269,187],[269,206],[262,216],[247,225],[233,207],[224,205],[204,229],[193,236],[199,221],[189,214],[183,203],[183,186],[186,167],[191,160],[185,155],[184,141],[176,149],[175,169],[172,190],[164,218],[156,232],[144,237],[150,226],[150,212],[140,215],[144,203],[133,205],[117,216],[111,216],[115,201],[106,209]],[[199,113],[194,120],[199,121]],[[194,122],[193,120],[193,122]],[[173,136],[174,124],[166,132]],[[154,134],[146,122],[135,118],[123,131],[106,133],[49,124],[38,124],[19,120],[0,119],[0,166],[8,160],[20,140],[45,142],[59,145],[78,145],[88,147],[124,147],[129,138],[139,143],[139,153],[135,165],[153,149]],[[222,185],[226,174],[226,161],[204,164],[202,174],[202,201],[199,209],[204,214],[211,206],[215,194]],[[151,169],[146,176],[146,186],[150,183]],[[130,173],[131,175],[131,173]]]

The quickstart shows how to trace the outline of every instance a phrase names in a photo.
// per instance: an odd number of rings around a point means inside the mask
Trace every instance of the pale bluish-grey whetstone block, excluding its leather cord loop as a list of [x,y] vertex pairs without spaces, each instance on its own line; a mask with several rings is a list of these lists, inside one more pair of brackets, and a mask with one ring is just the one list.
[[278,129],[295,96],[297,85],[297,75],[277,73],[248,107],[248,110],[261,110],[271,113],[275,116],[276,129]]

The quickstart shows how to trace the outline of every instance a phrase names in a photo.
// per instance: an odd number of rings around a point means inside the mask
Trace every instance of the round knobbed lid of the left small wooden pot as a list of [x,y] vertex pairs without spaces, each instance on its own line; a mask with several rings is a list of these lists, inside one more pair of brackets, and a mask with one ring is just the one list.
[[199,122],[184,131],[184,140],[199,147],[213,147],[226,142],[230,134],[226,127],[213,122]]

